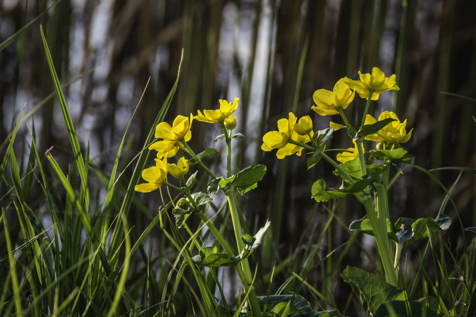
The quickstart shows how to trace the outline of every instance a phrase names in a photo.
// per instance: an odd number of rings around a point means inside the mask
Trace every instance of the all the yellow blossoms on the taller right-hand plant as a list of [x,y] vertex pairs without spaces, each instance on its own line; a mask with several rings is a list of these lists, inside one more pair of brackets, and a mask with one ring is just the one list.
[[[371,100],[377,100],[380,94],[388,90],[400,89],[396,85],[395,75],[385,77],[385,74],[377,67],[372,69],[372,74],[362,74],[359,72],[359,77],[360,80],[352,80],[344,77],[337,81],[332,91],[318,89],[314,92],[313,99],[316,106],[312,106],[312,110],[319,115],[340,114],[346,123],[346,125],[341,125],[331,121],[330,127],[334,128],[334,131],[350,127],[344,114],[344,109],[354,100],[356,92],[361,98],[367,100],[372,92]],[[377,134],[366,136],[365,139],[379,142],[377,148],[384,148],[385,144],[407,142],[413,130],[407,133],[405,129],[407,120],[401,123],[395,113],[385,111],[378,117],[378,121],[386,118],[393,118],[396,119],[396,121],[382,128]],[[298,124],[296,124],[296,121],[297,118],[293,113],[289,113],[289,119],[278,120],[278,131],[271,131],[263,136],[261,149],[264,151],[278,149],[276,156],[279,159],[294,153],[301,155],[304,147],[298,144],[304,145],[311,142],[314,133],[312,131],[312,121],[309,116],[304,116],[299,119]],[[367,115],[365,120],[366,125],[371,125],[375,122],[377,122],[377,120],[373,116]],[[345,163],[358,157],[357,144],[355,141],[353,142],[355,147],[348,148],[346,152],[337,154],[337,161]]]

